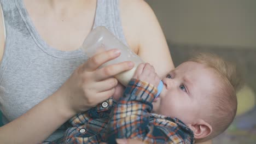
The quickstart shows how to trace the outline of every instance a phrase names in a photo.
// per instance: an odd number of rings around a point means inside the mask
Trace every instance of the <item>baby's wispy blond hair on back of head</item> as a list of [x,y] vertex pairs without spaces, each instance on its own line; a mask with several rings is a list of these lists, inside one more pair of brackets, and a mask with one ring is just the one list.
[[214,70],[219,79],[215,85],[218,91],[210,97],[211,106],[207,109],[205,121],[211,124],[212,133],[204,139],[206,141],[223,133],[234,120],[237,110],[236,92],[242,86],[241,74],[236,66],[212,53],[200,53],[190,61],[201,63]]

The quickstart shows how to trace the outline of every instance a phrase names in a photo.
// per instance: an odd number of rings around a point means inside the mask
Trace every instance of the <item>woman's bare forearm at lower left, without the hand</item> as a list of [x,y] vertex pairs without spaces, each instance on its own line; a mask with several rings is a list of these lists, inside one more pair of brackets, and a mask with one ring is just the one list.
[[14,121],[0,128],[0,143],[38,143],[65,123],[74,113],[53,94]]

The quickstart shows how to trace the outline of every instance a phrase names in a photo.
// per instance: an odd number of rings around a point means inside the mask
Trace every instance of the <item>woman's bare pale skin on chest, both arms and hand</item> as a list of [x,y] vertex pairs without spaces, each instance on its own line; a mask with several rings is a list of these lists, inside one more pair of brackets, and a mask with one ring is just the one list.
[[[76,50],[91,31],[96,7],[95,0],[24,0],[24,3],[38,33],[46,43],[55,49]],[[38,5],[41,6],[38,7]],[[120,15],[125,38],[130,48],[145,62],[154,65],[159,76],[164,77],[174,66],[164,34],[152,9],[142,0],[120,0]],[[0,61],[4,52],[4,43],[1,14]],[[94,58],[97,59],[96,61],[85,62],[74,71],[58,91],[49,95],[24,115],[1,127],[1,143],[38,143],[43,141],[75,113],[88,110],[103,99],[111,97],[113,89],[117,86],[117,80],[110,77],[131,69],[129,62],[125,62],[95,70],[101,63],[116,57],[117,55],[114,56],[114,53],[114,51],[101,53],[101,56]],[[90,65],[95,65],[95,67],[92,68]],[[100,75],[102,79],[97,80],[96,75]],[[68,95],[67,91],[76,93],[86,91],[82,85],[68,87],[77,85],[74,81],[78,77],[83,77],[86,80],[82,83],[84,87],[93,86],[95,91],[89,95],[81,94],[75,98]],[[96,85],[97,83],[107,83],[107,81],[113,83],[112,87]],[[105,93],[98,97],[103,99],[94,99],[92,96],[99,93],[97,89],[100,87],[103,88],[101,92]],[[80,99],[83,99],[84,103]],[[40,119],[44,119],[44,121],[39,121]]]

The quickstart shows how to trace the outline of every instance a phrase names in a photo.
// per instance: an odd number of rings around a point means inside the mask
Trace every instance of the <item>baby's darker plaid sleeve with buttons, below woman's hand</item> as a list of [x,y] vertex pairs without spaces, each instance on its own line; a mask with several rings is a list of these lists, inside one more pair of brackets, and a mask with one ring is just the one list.
[[102,104],[98,104],[86,112],[73,116],[67,122],[68,129],[63,137],[53,142],[44,141],[43,144],[104,142],[106,125],[110,119],[109,114],[117,101],[109,98],[105,102],[108,103],[107,107],[102,107]]

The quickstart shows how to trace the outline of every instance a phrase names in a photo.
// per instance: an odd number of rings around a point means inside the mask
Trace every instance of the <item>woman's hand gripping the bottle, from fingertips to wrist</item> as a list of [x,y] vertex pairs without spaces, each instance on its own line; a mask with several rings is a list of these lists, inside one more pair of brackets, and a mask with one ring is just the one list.
[[73,113],[86,111],[112,97],[118,84],[113,76],[133,68],[132,62],[121,62],[99,68],[103,63],[120,56],[114,49],[97,53],[80,65],[59,89],[65,106]]

